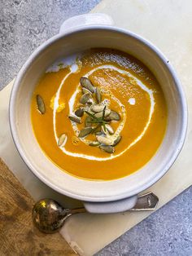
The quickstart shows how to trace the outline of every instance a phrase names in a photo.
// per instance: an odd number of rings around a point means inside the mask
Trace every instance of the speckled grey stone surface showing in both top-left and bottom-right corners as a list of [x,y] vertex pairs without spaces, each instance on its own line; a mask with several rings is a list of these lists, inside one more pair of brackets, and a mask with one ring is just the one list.
[[[90,11],[98,2],[0,0],[0,89],[41,42],[58,32],[63,20]],[[192,256],[192,187],[97,254],[113,255]]]

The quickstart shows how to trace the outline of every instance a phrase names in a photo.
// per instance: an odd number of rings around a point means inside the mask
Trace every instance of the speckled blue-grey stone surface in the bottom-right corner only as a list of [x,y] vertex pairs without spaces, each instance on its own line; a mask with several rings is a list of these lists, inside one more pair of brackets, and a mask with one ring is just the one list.
[[192,255],[192,187],[97,254],[97,256],[165,255]]

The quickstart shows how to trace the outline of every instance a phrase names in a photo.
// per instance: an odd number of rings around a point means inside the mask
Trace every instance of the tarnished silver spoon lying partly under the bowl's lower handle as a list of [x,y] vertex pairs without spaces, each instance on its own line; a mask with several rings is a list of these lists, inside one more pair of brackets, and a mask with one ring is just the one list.
[[[137,203],[130,210],[155,210],[159,198],[152,192],[138,196]],[[85,213],[84,207],[65,209],[52,199],[41,199],[33,206],[33,223],[44,233],[57,232],[63,226],[66,218],[72,214]]]

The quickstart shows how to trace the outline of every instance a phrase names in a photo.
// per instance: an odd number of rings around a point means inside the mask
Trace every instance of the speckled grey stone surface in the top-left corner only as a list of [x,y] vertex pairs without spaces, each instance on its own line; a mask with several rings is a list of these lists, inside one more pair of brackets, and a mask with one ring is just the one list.
[[15,77],[28,56],[58,33],[73,15],[99,0],[0,0],[0,89]]

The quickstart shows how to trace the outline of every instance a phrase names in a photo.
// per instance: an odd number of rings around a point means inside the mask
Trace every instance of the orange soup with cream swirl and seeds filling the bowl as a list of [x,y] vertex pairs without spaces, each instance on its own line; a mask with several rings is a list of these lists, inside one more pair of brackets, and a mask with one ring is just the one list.
[[47,69],[33,92],[31,119],[41,149],[61,170],[109,180],[132,174],[154,156],[167,106],[144,64],[98,48]]

